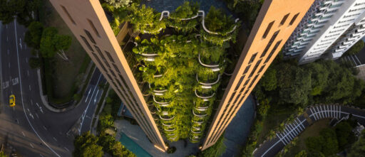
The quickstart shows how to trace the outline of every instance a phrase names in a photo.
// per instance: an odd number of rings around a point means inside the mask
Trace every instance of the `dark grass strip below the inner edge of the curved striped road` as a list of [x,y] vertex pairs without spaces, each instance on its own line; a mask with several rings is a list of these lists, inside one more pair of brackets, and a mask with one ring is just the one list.
[[329,121],[329,119],[319,120],[317,122],[314,122],[312,126],[309,126],[307,129],[305,129],[302,134],[298,136],[297,145],[289,149],[289,151],[285,154],[285,157],[295,156],[302,150],[306,150],[308,152],[304,143],[305,139],[310,136],[319,136],[319,131],[324,128],[329,128]]

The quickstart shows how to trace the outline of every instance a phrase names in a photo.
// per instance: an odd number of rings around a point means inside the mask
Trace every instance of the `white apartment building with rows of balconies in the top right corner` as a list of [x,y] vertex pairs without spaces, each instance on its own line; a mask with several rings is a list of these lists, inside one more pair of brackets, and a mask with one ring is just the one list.
[[365,0],[315,1],[285,44],[284,57],[299,58],[299,64],[322,58],[354,23],[360,23],[364,12]]

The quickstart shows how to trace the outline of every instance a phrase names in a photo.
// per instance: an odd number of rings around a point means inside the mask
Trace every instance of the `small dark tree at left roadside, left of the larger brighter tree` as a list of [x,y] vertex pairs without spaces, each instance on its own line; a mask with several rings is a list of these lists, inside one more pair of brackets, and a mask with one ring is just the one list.
[[33,21],[28,26],[28,31],[26,31],[26,36],[24,41],[26,45],[31,48],[39,49],[39,45],[41,44],[41,38],[43,33],[43,25],[38,21]]

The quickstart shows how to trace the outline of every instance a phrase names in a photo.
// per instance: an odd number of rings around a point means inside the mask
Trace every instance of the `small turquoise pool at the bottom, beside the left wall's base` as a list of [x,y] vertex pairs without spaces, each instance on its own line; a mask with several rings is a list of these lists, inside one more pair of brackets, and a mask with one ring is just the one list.
[[125,148],[128,148],[129,151],[135,153],[135,156],[137,157],[152,157],[149,153],[147,153],[147,151],[145,151],[143,148],[140,148],[140,146],[138,146],[135,141],[123,133],[121,134],[119,141],[123,146],[125,146]]

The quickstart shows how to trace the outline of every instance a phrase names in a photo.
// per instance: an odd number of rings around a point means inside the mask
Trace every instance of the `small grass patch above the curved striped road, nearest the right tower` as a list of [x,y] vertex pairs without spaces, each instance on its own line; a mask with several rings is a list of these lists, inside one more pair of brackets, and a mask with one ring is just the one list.
[[265,140],[269,131],[279,126],[282,121],[290,117],[293,113],[292,109],[287,109],[284,107],[277,107],[279,105],[272,105],[267,113],[266,119],[263,121],[262,133],[257,138],[257,144],[262,144]]

